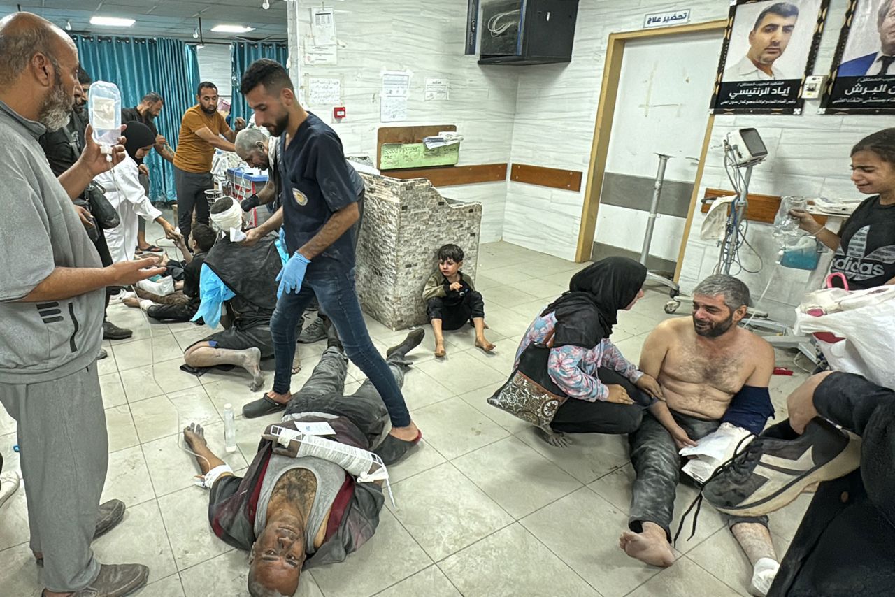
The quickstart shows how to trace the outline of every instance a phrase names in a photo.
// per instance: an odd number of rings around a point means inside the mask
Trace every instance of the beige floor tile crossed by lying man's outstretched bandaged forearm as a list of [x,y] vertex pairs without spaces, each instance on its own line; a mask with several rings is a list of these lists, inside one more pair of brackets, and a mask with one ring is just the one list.
[[[205,438],[211,451],[234,471],[248,466],[238,449],[234,453],[227,453],[224,449],[223,422],[212,423],[205,427]],[[257,440],[255,445],[258,445]],[[195,479],[193,475],[199,474],[196,457],[184,451],[182,446],[181,433],[143,443],[143,455],[146,457],[149,479],[157,496],[192,487]]]

